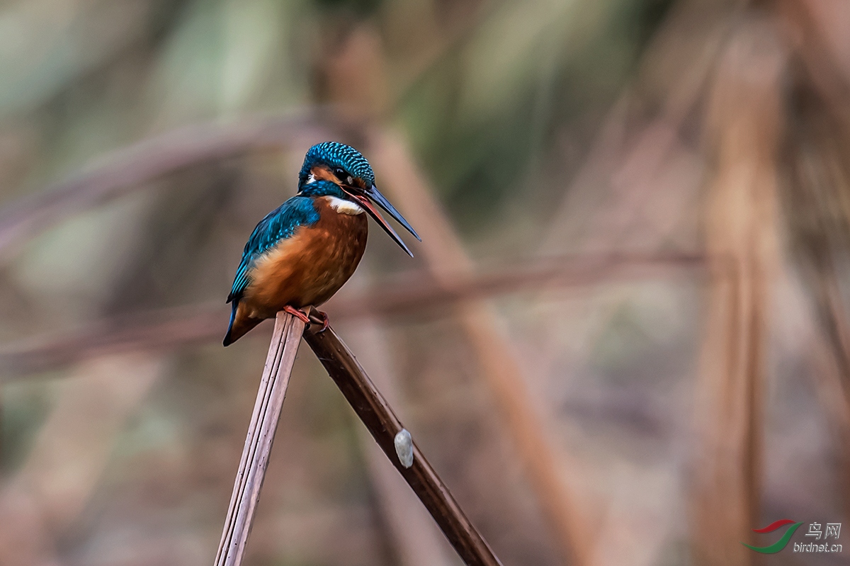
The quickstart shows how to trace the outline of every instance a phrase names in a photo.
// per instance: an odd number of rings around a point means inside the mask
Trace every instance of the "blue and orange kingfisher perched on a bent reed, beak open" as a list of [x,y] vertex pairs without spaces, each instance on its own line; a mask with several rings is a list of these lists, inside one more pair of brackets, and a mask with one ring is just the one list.
[[[281,310],[309,323],[303,308],[331,298],[363,257],[369,229],[364,212],[412,258],[375,205],[422,241],[377,190],[360,151],[338,142],[311,147],[298,173],[297,195],[269,212],[248,238],[227,297],[232,310],[224,346]],[[325,330],[327,314],[320,314]]]

